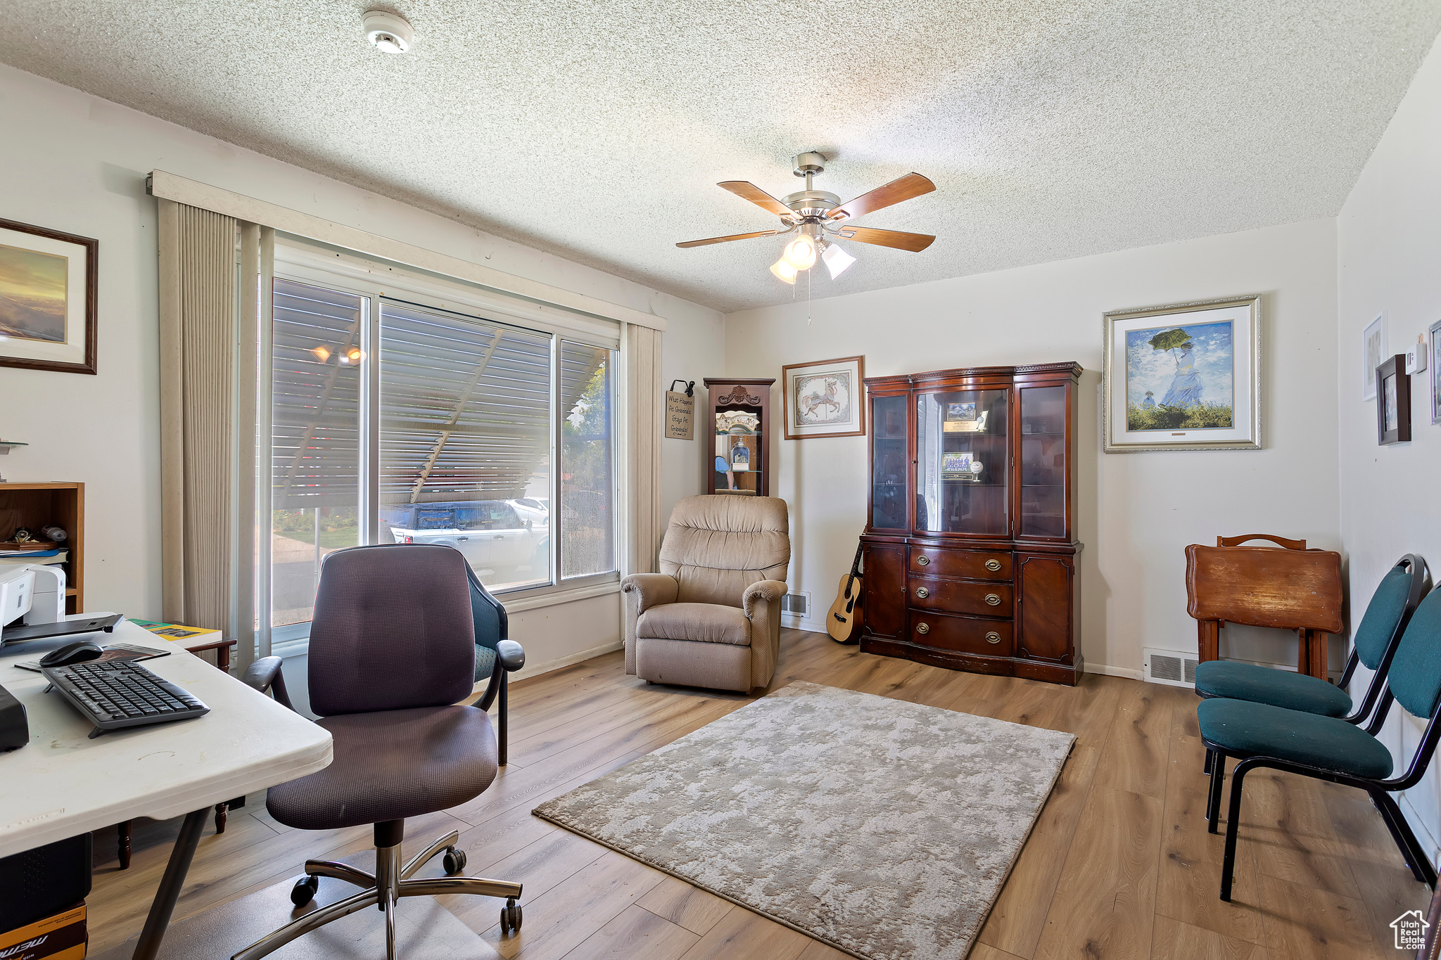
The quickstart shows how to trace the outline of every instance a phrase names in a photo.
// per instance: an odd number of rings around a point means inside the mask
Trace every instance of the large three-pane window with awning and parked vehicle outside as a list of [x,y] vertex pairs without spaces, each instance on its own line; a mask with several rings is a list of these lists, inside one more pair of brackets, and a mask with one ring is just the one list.
[[615,577],[614,350],[363,284],[274,289],[277,639],[362,543],[455,547],[494,592]]

